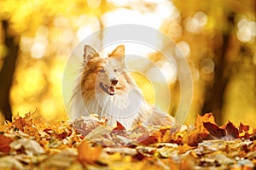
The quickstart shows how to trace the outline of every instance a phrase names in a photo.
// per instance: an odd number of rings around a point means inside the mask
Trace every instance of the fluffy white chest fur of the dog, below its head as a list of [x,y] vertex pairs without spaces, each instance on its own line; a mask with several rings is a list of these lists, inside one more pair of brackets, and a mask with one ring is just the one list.
[[[78,91],[79,92],[79,91]],[[108,125],[116,126],[120,122],[125,128],[131,128],[137,117],[143,111],[142,95],[137,89],[132,89],[127,94],[96,93],[88,96],[77,93],[73,96],[72,114],[73,119],[80,116],[89,116],[92,113],[108,119]]]

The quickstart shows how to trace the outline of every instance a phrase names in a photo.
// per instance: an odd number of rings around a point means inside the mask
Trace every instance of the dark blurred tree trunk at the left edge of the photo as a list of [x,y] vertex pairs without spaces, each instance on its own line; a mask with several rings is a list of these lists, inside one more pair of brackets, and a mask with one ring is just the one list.
[[18,57],[19,45],[15,42],[15,36],[9,32],[9,21],[2,20],[4,42],[7,48],[6,56],[3,60],[3,66],[0,71],[0,111],[6,120],[11,121],[12,111],[9,101],[9,92],[13,84],[15,73],[15,63]]

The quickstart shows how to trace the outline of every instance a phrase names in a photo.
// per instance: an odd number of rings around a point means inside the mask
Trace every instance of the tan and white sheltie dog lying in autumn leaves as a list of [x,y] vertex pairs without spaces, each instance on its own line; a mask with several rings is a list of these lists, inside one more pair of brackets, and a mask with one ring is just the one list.
[[108,58],[84,46],[83,68],[71,99],[72,119],[97,114],[108,119],[108,125],[119,122],[126,129],[137,124],[174,125],[172,116],[146,103],[136,82],[125,71],[124,59],[124,45],[115,48]]

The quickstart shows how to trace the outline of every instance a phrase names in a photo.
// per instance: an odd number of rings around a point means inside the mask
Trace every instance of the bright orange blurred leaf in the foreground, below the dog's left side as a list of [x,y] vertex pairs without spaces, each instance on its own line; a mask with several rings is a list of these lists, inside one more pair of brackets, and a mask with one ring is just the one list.
[[87,163],[94,163],[96,162],[102,153],[102,147],[96,146],[92,147],[90,146],[87,141],[83,141],[81,144],[79,144],[79,161],[83,164]]

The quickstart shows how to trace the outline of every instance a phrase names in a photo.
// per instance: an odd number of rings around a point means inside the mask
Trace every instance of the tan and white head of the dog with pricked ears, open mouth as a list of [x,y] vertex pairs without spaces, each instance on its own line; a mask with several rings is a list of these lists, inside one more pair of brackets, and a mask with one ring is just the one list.
[[94,48],[85,45],[82,88],[94,88],[97,93],[108,95],[124,93],[128,83],[124,71],[124,58],[124,45],[115,48],[108,54],[108,58],[101,58]]

